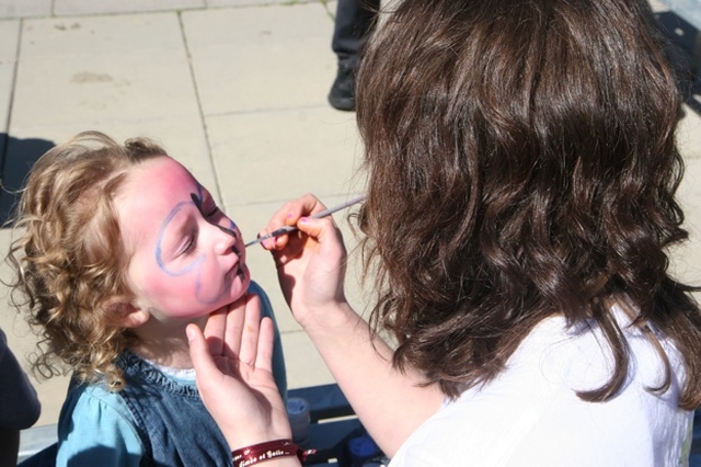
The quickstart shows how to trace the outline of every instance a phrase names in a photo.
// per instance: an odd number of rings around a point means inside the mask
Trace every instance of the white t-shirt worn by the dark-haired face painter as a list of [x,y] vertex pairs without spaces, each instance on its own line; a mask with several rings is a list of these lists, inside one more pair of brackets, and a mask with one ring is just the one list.
[[[621,326],[628,320],[616,312]],[[608,380],[612,357],[598,327],[566,329],[564,318],[538,324],[490,384],[463,392],[423,423],[390,466],[678,467],[688,459],[693,412],[677,407],[681,357],[665,340],[664,366],[640,330],[622,328],[631,365],[624,387],[606,402],[575,390]],[[658,337],[659,338],[659,337]]]

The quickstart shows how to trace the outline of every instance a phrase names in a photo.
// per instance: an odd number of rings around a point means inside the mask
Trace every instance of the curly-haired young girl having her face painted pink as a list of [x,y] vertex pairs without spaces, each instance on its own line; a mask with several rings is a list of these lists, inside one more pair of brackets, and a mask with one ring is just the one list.
[[[239,228],[209,192],[147,139],[120,146],[87,132],[33,167],[16,229],[14,298],[45,346],[35,365],[46,376],[58,361],[73,371],[57,465],[230,465],[194,384],[185,327],[242,309],[249,293],[272,310]],[[279,342],[276,353],[284,392]]]

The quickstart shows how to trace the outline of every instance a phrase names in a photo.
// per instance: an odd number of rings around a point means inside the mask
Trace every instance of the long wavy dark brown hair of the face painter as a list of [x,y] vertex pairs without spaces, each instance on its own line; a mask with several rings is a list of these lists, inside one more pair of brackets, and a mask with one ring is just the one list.
[[371,315],[456,397],[494,378],[529,331],[594,320],[624,381],[612,303],[685,358],[701,402],[701,318],[667,271],[687,238],[675,201],[680,96],[645,0],[403,0],[368,44],[357,119]]

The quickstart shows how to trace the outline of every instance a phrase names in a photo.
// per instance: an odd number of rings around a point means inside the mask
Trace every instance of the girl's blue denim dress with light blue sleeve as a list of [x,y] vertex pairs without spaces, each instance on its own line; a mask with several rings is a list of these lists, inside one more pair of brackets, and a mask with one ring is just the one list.
[[[261,297],[262,315],[274,318],[260,286],[252,283],[249,291]],[[275,330],[273,372],[286,397],[285,360],[277,326]],[[116,364],[126,383],[118,392],[108,391],[100,383],[71,384],[59,417],[57,465],[232,465],[229,445],[193,379],[165,375],[128,350]]]

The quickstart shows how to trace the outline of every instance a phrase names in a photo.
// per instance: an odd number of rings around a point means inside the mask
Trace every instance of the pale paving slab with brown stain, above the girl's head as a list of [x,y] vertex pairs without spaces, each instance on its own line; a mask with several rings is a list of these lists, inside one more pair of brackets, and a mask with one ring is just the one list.
[[27,20],[12,128],[198,115],[177,15]]

